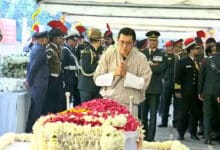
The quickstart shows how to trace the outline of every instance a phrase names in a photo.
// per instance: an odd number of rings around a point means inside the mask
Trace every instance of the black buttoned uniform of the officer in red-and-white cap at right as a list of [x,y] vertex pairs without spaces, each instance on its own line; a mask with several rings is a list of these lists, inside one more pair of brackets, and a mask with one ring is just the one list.
[[[182,99],[179,102],[177,130],[180,138],[184,137],[190,118],[192,136],[196,136],[201,102],[198,99],[199,70],[192,58],[185,57],[178,61],[175,72],[175,82],[181,87]],[[190,113],[190,116],[189,116]]]

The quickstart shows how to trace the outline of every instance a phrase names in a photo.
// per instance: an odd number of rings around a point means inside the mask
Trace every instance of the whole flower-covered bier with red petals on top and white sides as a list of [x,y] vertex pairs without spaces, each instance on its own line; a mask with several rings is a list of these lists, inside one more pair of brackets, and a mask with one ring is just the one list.
[[140,123],[125,106],[95,99],[41,117],[33,127],[32,149],[124,150],[124,132],[138,127]]

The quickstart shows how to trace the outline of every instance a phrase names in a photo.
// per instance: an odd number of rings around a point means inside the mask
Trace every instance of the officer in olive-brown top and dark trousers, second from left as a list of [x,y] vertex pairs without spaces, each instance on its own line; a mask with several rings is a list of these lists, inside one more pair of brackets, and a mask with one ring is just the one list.
[[[56,113],[65,109],[65,100],[61,103],[62,76],[61,76],[61,45],[63,45],[63,33],[59,29],[49,31],[49,44],[46,53],[49,63],[49,84],[45,113]],[[61,108],[62,107],[62,108]]]

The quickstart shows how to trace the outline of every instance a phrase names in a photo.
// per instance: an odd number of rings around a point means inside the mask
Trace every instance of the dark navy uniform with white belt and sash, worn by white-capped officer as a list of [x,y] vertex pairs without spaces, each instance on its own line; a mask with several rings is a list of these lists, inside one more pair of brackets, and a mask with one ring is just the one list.
[[79,105],[80,94],[78,90],[79,62],[76,48],[70,48],[67,44],[62,48],[62,69],[64,71],[65,91],[71,93],[74,106]]

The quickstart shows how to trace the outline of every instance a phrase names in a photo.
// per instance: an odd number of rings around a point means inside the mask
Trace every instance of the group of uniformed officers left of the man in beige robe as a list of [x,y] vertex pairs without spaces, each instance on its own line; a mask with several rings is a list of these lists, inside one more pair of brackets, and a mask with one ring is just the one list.
[[25,82],[31,95],[27,132],[41,115],[66,109],[66,92],[73,106],[100,97],[93,72],[104,49],[114,42],[111,32],[103,37],[97,28],[89,29],[88,39],[77,30],[65,33],[60,28],[35,33],[33,38]]

